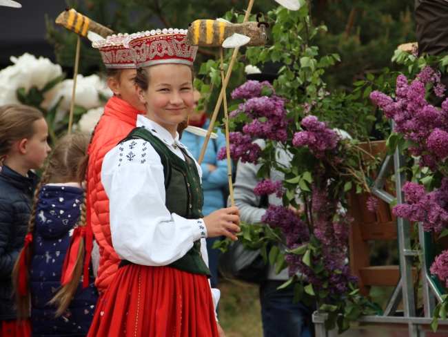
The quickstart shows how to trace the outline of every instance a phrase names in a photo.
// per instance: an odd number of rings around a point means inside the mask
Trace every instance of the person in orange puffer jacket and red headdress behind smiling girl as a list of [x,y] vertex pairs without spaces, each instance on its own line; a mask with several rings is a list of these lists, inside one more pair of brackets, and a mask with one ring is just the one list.
[[95,285],[103,293],[116,273],[120,259],[116,255],[109,229],[109,200],[101,184],[103,158],[111,148],[135,128],[137,116],[145,114],[145,106],[136,95],[136,69],[130,50],[123,46],[128,34],[113,35],[94,42],[107,68],[108,86],[114,93],[105,105],[104,114],[92,133],[88,155],[79,172],[79,180],[88,182],[88,222],[99,244],[99,269]]

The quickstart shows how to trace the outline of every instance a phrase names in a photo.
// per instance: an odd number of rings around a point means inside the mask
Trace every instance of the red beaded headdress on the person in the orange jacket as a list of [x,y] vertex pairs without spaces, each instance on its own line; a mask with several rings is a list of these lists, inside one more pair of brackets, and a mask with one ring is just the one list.
[[135,69],[131,51],[123,46],[128,33],[112,35],[107,39],[94,41],[92,46],[98,48],[106,68]]

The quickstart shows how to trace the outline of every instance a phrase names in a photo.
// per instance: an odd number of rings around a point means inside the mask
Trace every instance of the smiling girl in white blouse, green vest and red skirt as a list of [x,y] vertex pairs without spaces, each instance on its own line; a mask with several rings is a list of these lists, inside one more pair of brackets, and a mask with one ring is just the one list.
[[105,156],[101,170],[122,261],[96,309],[92,337],[224,336],[204,238],[236,240],[240,213],[230,207],[203,218],[201,166],[176,132],[193,106],[197,47],[185,45],[186,33],[170,28],[127,41],[147,115]]

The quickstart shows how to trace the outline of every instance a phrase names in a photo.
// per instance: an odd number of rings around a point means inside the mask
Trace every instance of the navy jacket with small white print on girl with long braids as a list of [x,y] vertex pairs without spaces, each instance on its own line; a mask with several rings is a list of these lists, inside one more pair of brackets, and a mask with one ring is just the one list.
[[61,273],[74,227],[81,216],[83,191],[72,186],[42,186],[36,211],[30,265],[32,336],[86,336],[98,300],[90,265],[90,286],[82,277],[66,313],[54,318],[48,305],[61,287]]

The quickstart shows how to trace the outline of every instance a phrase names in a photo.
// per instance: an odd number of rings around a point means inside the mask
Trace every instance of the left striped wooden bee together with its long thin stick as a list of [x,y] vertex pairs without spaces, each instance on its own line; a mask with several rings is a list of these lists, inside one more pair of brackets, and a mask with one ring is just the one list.
[[70,104],[70,119],[68,120],[68,135],[72,131],[73,123],[73,110],[74,110],[74,95],[77,88],[77,77],[79,68],[79,52],[81,50],[81,36],[90,39],[90,41],[99,41],[112,35],[113,30],[96,23],[95,21],[85,17],[74,9],[64,10],[57,18],[56,23],[60,26],[72,30],[77,33],[77,54],[74,61],[74,73],[73,73],[73,91],[72,102]]

